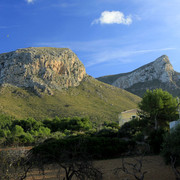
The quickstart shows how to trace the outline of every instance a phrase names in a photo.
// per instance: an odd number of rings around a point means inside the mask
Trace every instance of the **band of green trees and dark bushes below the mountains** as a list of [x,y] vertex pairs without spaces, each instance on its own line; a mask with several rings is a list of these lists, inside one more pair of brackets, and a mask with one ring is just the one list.
[[[87,117],[55,117],[37,121],[1,115],[1,144],[34,147],[18,159],[2,153],[0,158],[5,158],[5,169],[15,168],[19,164],[18,171],[22,172],[19,179],[24,179],[32,168],[43,171],[46,166],[55,164],[59,172],[63,170],[64,179],[71,180],[75,176],[84,180],[102,178],[100,170],[93,166],[93,160],[138,155],[135,164],[122,161],[116,172],[123,171],[137,180],[144,180],[147,172],[142,171],[143,156],[161,153],[179,180],[180,129],[176,127],[170,133],[167,126],[169,121],[178,118],[177,106],[175,98],[169,93],[161,89],[148,90],[139,103],[140,116],[121,127],[116,122],[98,124]],[[7,163],[11,160],[12,163]]]

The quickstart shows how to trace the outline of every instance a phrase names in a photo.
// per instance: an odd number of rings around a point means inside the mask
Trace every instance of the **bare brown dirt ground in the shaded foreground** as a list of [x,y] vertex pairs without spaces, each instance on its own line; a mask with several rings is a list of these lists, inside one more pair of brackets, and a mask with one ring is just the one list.
[[[134,158],[125,158],[124,162],[134,163]],[[114,169],[121,167],[122,159],[101,160],[94,164],[103,173],[103,180],[135,180],[133,176],[128,176],[124,172],[117,175],[114,174]],[[165,165],[160,156],[146,156],[143,160],[142,171],[147,171],[144,180],[175,180],[175,176],[170,166]],[[26,180],[57,180],[57,169],[46,170],[44,176],[39,175],[38,171],[33,171],[29,174]]]

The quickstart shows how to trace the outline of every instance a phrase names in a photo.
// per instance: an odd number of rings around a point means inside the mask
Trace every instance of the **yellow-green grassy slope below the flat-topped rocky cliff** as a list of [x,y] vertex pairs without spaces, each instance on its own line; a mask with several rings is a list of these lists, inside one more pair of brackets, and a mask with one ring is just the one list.
[[89,116],[97,122],[115,121],[120,112],[136,108],[139,101],[138,96],[89,76],[78,87],[54,90],[52,96],[39,97],[15,86],[0,88],[0,112],[18,119]]

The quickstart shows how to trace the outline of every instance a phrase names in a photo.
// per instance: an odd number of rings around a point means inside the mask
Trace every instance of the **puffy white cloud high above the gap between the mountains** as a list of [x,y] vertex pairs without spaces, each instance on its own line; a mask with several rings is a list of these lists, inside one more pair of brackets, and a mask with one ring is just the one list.
[[130,25],[132,23],[131,16],[125,17],[120,11],[104,11],[101,13],[101,17],[95,19],[92,24],[125,24]]

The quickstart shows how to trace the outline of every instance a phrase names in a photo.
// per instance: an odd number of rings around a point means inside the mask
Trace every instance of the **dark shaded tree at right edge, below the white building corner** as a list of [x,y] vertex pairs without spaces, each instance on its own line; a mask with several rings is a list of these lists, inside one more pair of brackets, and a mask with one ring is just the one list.
[[180,126],[164,137],[162,156],[167,164],[171,164],[176,180],[180,180]]

